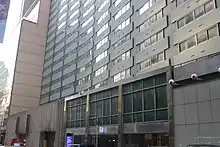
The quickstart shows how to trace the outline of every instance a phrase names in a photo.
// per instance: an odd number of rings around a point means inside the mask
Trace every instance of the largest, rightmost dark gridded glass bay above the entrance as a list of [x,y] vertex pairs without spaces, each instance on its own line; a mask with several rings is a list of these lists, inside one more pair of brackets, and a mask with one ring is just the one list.
[[166,74],[128,83],[122,88],[124,123],[168,120]]

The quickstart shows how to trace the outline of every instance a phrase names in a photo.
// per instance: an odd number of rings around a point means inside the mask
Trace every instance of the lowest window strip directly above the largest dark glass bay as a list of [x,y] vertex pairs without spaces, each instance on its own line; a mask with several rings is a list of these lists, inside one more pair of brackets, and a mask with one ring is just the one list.
[[159,63],[160,61],[164,60],[164,52],[160,52],[159,54],[156,54],[152,56],[150,59],[147,59],[140,63],[140,70],[144,70],[147,67],[150,67],[156,63]]

